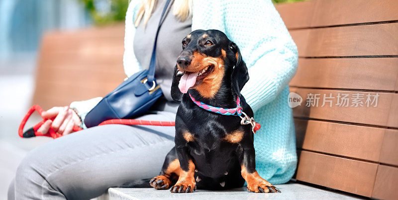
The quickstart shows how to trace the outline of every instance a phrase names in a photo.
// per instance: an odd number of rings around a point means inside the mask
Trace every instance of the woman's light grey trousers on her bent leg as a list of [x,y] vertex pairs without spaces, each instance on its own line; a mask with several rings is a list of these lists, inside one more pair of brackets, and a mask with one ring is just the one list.
[[[152,111],[137,119],[174,121],[175,113]],[[54,139],[22,160],[8,199],[91,199],[110,187],[152,178],[174,135],[174,127],[105,125]]]

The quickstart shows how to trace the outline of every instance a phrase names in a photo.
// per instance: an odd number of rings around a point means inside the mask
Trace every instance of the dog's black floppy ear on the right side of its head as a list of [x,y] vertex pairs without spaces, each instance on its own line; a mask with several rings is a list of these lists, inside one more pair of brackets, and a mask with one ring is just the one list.
[[232,88],[235,90],[236,94],[240,96],[240,91],[249,80],[249,72],[247,71],[245,62],[242,60],[242,55],[240,54],[238,46],[231,42],[229,44],[229,49],[231,49],[231,51],[235,54],[236,58],[236,63],[231,76]]

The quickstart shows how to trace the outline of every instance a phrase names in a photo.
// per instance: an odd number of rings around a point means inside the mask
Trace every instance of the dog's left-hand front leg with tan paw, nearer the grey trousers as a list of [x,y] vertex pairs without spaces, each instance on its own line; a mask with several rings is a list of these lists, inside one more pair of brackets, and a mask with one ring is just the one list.
[[189,155],[188,147],[186,145],[177,146],[177,155],[180,160],[180,177],[176,185],[171,187],[172,193],[192,193],[196,188],[195,182],[195,164]]

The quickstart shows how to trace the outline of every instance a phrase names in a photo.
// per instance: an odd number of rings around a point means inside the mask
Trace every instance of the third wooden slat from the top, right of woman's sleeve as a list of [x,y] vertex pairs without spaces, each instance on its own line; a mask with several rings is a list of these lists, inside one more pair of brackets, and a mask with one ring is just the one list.
[[394,91],[398,58],[298,59],[291,86]]

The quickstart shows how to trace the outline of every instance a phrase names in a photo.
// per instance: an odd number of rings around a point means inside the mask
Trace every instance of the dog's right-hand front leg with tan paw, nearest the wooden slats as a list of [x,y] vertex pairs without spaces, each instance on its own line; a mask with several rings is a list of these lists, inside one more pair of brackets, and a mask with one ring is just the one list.
[[253,140],[241,144],[240,165],[242,177],[247,182],[247,191],[255,193],[281,192],[278,188],[261,178],[256,170],[255,150]]

